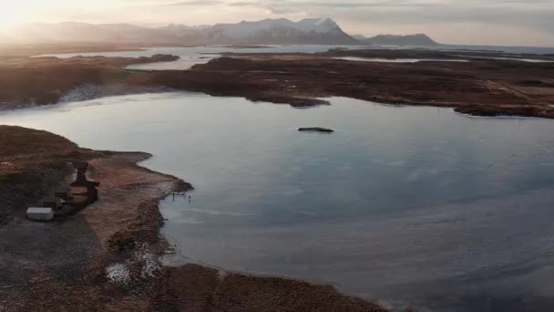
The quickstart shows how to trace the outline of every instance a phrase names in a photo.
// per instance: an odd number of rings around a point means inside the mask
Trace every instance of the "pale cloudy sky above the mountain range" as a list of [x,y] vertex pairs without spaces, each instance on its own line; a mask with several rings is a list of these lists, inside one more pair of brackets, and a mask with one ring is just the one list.
[[554,47],[554,0],[0,0],[0,26],[33,22],[211,25],[331,17],[350,34]]

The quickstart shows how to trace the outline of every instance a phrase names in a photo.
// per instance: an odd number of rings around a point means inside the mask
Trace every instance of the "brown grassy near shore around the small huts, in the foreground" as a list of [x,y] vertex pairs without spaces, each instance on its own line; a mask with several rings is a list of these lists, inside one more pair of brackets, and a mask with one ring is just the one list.
[[[149,154],[91,151],[54,134],[0,126],[0,311],[385,311],[284,278],[159,262],[159,199],[190,184],[137,165]],[[89,161],[99,201],[50,224],[27,204]]]

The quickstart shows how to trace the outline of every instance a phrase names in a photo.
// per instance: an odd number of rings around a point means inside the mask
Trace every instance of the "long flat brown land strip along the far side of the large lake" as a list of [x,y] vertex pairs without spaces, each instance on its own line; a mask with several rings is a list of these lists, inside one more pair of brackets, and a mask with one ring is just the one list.
[[[477,58],[413,64],[334,58],[387,54],[393,58]],[[554,63],[485,58],[498,56],[506,54],[337,50],[320,55],[228,55],[185,71],[122,68],[167,61],[170,56],[5,58],[0,61],[0,85],[5,86],[0,89],[0,108],[56,103],[72,89],[95,85],[105,89],[98,96],[171,88],[295,107],[328,104],[322,98],[338,96],[387,104],[452,107],[479,116],[554,118]]]

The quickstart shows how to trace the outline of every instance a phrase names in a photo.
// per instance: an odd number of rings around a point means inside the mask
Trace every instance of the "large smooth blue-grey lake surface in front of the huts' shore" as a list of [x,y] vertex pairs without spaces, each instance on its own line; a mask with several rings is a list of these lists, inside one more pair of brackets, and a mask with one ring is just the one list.
[[[163,233],[229,270],[421,311],[554,307],[554,121],[333,98],[293,109],[190,93],[0,113],[191,182]],[[322,126],[333,134],[302,133]]]

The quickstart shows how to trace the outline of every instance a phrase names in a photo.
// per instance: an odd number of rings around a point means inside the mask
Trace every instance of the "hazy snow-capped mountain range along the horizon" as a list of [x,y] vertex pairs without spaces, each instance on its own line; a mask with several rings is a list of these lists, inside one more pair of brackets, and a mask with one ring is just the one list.
[[[425,35],[405,36],[410,45],[436,43]],[[139,45],[358,45],[390,44],[384,38],[350,36],[330,18],[286,18],[214,26],[169,25],[157,28],[128,24],[26,24],[0,30],[8,43],[118,43]],[[409,39],[407,38],[409,37]],[[385,40],[382,40],[385,39]],[[419,40],[419,41],[418,41]],[[430,40],[430,41],[429,41]],[[418,44],[420,43],[420,44]],[[404,44],[404,43],[403,43]]]

